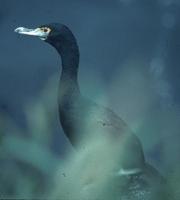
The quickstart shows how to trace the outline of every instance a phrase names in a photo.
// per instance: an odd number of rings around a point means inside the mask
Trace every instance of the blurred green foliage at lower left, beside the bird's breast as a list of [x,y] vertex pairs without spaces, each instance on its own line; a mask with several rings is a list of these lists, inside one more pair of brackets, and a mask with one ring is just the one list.
[[46,197],[61,161],[52,151],[56,102],[46,88],[26,105],[26,129],[0,116],[0,198]]

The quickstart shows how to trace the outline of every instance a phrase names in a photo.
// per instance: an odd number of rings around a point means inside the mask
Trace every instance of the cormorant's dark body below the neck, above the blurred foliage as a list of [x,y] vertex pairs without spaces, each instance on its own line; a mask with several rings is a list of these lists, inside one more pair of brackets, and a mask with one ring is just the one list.
[[[68,95],[60,96],[59,102],[61,125],[73,146],[80,147],[90,140],[104,138],[114,143],[118,142],[119,147],[122,147],[127,140],[127,157],[136,154],[136,159],[142,166],[144,155],[140,141],[113,111],[80,94],[73,97],[73,102]],[[125,151],[124,148],[122,149]]]

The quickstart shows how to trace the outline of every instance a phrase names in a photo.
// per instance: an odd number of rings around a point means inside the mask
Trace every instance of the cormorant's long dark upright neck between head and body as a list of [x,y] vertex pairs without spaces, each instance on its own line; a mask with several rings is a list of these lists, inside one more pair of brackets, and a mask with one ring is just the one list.
[[[59,85],[59,101],[73,100],[80,94],[78,85],[79,49],[74,36],[61,38],[56,42],[56,50],[61,56],[62,72]],[[61,102],[59,102],[61,103]]]

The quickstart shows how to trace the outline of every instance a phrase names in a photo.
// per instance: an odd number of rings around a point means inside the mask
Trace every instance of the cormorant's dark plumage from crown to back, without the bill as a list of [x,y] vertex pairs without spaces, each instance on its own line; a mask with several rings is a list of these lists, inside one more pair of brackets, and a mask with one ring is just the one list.
[[[59,85],[59,115],[65,134],[73,146],[83,140],[109,137],[124,146],[123,168],[141,168],[144,155],[140,141],[126,123],[110,109],[97,105],[80,93],[78,85],[79,49],[72,32],[64,25],[49,24],[52,31],[45,40],[56,48],[62,59]],[[116,143],[117,144],[117,143]],[[128,159],[127,159],[128,158]],[[130,159],[129,159],[130,158]]]

